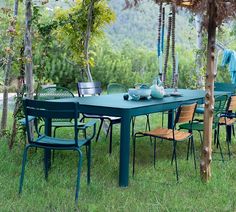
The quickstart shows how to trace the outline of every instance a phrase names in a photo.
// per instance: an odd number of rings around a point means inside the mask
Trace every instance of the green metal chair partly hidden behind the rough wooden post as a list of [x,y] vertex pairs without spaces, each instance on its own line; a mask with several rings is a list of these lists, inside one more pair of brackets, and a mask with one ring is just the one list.
[[[221,114],[225,112],[225,104],[226,104],[227,99],[228,99],[227,95],[221,95],[221,96],[217,96],[215,98],[213,126],[212,126],[213,130],[214,130],[214,143],[217,144],[217,148],[219,147],[219,149],[220,149],[222,161],[224,161],[224,156],[223,156],[222,148],[221,148],[220,141],[219,141],[219,126],[220,126]],[[202,135],[201,135],[201,132],[204,131],[203,121],[195,121],[191,125],[188,123],[181,124],[179,126],[179,128],[185,129],[185,130],[193,130],[193,131],[195,130],[195,131],[199,132],[201,143],[203,142]]]

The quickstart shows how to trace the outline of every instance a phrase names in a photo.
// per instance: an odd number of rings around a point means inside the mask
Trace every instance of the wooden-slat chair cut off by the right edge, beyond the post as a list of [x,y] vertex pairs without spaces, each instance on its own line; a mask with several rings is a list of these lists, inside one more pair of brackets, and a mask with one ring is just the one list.
[[[221,114],[219,126],[225,126],[226,129],[226,143],[228,146],[228,155],[231,158],[230,144],[231,144],[231,130],[234,132],[234,124],[236,122],[236,95],[229,98],[225,113]],[[220,133],[220,128],[219,128]]]

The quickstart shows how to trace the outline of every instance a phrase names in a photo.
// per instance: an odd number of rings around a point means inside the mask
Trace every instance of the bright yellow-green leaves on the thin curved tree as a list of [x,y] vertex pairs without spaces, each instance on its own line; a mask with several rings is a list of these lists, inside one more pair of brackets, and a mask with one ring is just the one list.
[[[85,66],[84,42],[87,29],[88,8],[90,1],[77,0],[69,9],[57,9],[55,20],[58,22],[54,35],[61,46],[67,49],[72,61]],[[114,20],[114,13],[108,7],[105,0],[96,1],[93,10],[93,22],[91,26],[90,44],[93,45],[96,38],[103,35],[103,27]],[[94,65],[93,58],[90,59]]]

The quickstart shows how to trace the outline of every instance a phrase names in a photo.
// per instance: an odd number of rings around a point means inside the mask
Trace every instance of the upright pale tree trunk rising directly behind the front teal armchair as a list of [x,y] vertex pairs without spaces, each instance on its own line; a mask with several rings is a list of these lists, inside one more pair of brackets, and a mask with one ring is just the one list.
[[25,1],[25,77],[27,97],[33,99],[33,59],[32,59],[32,41],[31,41],[31,19],[32,19],[32,2]]

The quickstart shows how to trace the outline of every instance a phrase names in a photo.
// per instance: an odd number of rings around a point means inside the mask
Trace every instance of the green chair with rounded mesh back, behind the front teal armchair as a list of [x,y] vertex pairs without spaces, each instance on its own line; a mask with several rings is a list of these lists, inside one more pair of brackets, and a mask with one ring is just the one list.
[[[53,100],[53,99],[64,99],[64,98],[74,98],[74,94],[67,88],[53,86],[53,87],[46,87],[41,89],[37,95],[37,100]],[[78,126],[83,126],[84,123],[77,122]],[[40,125],[39,131],[44,125]],[[53,137],[56,136],[56,130],[62,127],[74,127],[74,123],[72,119],[54,119],[52,120],[52,127],[53,127]]]

